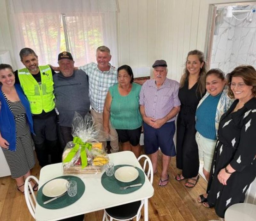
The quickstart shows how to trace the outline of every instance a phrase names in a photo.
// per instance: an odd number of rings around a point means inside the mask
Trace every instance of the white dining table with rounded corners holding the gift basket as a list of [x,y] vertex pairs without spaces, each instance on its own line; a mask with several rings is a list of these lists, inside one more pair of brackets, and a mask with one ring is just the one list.
[[[113,162],[115,165],[129,164],[143,170],[135,155],[131,151],[108,154],[108,156],[109,161]],[[144,220],[148,221],[148,199],[154,194],[154,188],[149,182],[149,179],[146,177],[145,183],[142,185],[142,187],[132,193],[114,194],[108,192],[101,185],[101,176],[103,172],[104,171],[98,174],[74,174],[74,176],[80,177],[85,184],[85,191],[81,198],[67,207],[54,210],[45,209],[36,203],[36,220],[60,220],[144,199]],[[44,166],[40,171],[39,188],[49,180],[62,175],[63,170],[61,163]]]

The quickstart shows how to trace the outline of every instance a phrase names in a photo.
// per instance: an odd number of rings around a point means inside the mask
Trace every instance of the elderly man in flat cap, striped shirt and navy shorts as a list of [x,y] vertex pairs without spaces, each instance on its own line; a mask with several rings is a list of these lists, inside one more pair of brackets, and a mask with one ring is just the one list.
[[150,155],[154,173],[157,172],[158,148],[163,156],[159,186],[169,182],[167,174],[171,157],[176,155],[173,142],[175,118],[180,111],[179,83],[166,78],[167,64],[156,60],[152,65],[154,79],[146,81],[140,91],[140,113],[143,118],[145,153]]

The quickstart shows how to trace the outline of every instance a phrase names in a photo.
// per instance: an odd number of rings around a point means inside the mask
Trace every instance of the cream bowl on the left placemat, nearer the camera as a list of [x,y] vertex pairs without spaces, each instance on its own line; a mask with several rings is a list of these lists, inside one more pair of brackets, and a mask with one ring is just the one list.
[[42,192],[49,197],[59,196],[67,191],[67,183],[66,179],[53,179],[44,185]]

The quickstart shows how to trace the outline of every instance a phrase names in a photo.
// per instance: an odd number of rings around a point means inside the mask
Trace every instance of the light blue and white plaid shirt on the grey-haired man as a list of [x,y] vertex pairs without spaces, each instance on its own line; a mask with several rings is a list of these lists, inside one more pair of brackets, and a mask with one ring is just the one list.
[[81,66],[79,69],[85,71],[89,77],[89,96],[92,108],[102,113],[108,88],[117,83],[117,69],[110,65],[108,71],[102,72],[94,62]]

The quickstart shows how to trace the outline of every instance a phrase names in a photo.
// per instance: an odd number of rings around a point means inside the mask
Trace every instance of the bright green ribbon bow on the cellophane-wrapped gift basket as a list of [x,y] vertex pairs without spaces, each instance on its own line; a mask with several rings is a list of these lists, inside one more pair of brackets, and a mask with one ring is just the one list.
[[92,144],[91,143],[84,143],[79,137],[74,137],[73,143],[75,144],[75,147],[73,147],[66,158],[63,160],[63,163],[68,163],[70,162],[73,157],[76,155],[76,152],[79,150],[79,147],[81,146],[81,151],[80,151],[80,156],[81,156],[81,161],[82,161],[82,169],[87,166],[87,155],[85,148],[88,150],[92,149]]

